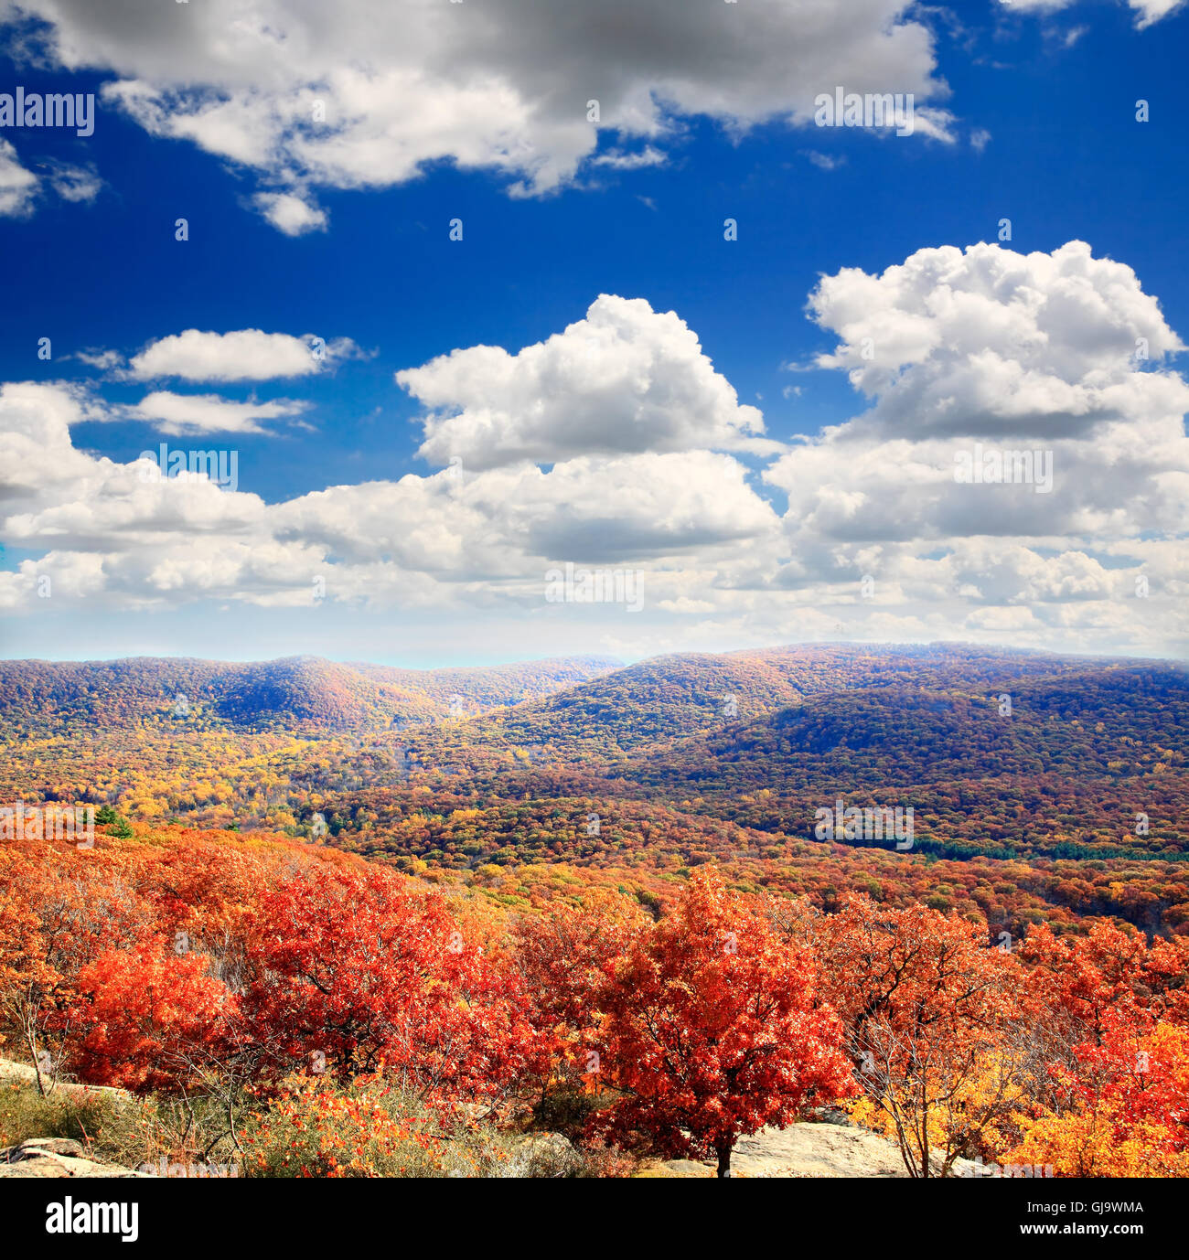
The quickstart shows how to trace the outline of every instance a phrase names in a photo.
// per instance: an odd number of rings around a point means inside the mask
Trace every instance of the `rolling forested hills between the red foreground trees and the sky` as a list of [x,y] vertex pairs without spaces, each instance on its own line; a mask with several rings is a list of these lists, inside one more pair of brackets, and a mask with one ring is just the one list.
[[[425,673],[8,662],[0,708],[9,799],[315,838],[501,897],[554,864],[663,896],[714,861],[822,905],[859,887],[1012,930],[1189,924],[1175,663],[965,644]],[[910,849],[823,840],[838,800],[912,809]]]

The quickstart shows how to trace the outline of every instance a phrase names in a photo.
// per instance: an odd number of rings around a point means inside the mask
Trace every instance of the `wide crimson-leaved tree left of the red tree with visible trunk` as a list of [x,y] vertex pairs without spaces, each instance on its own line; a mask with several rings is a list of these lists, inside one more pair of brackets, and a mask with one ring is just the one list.
[[380,869],[314,869],[266,891],[248,935],[245,1047],[267,1077],[316,1061],[386,1071],[431,1100],[494,1102],[538,1042],[511,966],[436,893]]

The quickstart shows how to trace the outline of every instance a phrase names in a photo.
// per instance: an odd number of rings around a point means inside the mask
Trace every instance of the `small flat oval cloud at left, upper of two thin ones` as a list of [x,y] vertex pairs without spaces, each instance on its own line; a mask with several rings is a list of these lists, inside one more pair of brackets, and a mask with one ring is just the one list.
[[163,336],[129,364],[139,381],[182,377],[185,381],[270,381],[308,377],[325,363],[352,353],[349,340],[327,344],[314,336],[262,333],[247,328],[237,333],[200,333],[187,329]]

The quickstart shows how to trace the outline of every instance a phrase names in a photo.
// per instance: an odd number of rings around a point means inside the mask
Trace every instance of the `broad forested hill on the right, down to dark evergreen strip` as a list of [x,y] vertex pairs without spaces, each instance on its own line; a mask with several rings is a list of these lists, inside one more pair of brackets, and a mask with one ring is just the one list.
[[970,644],[664,656],[407,742],[497,795],[664,801],[774,835],[813,838],[844,798],[913,806],[936,854],[1189,852],[1179,662]]

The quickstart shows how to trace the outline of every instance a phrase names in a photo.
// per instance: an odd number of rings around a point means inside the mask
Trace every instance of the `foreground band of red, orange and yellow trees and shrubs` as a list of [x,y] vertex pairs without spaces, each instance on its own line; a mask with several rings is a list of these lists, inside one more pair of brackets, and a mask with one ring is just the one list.
[[[653,897],[264,833],[25,838],[0,848],[0,1032],[37,1092],[0,1096],[0,1138],[53,1115],[107,1158],[245,1177],[722,1176],[740,1137],[844,1108],[913,1177],[1189,1174],[1189,935],[1087,926],[823,914],[714,866]],[[59,1079],[142,1105],[54,1110]]]

